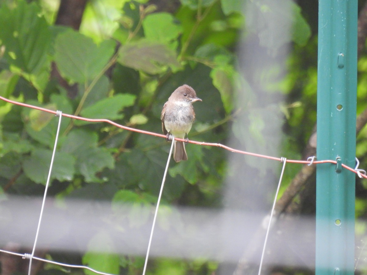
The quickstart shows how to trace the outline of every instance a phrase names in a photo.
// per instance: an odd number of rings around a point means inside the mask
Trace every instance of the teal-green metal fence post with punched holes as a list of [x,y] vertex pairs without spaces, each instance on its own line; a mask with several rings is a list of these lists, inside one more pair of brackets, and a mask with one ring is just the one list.
[[354,274],[357,0],[319,0],[316,275]]

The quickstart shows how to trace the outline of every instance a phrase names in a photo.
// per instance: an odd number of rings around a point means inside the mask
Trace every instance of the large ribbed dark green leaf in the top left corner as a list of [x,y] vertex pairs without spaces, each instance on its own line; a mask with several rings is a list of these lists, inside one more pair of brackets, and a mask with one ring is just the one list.
[[21,72],[36,76],[50,62],[51,32],[35,2],[19,1],[10,9],[6,4],[0,8],[0,45],[5,45],[4,55],[11,65]]

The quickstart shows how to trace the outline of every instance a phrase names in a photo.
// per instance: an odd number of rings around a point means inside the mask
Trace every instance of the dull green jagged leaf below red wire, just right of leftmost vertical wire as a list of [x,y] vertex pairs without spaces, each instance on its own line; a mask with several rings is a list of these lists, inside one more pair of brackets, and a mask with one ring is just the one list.
[[103,168],[112,169],[115,160],[105,149],[97,147],[98,135],[83,129],[74,129],[63,140],[61,151],[76,158],[76,172],[85,177],[85,181],[99,182],[95,174]]

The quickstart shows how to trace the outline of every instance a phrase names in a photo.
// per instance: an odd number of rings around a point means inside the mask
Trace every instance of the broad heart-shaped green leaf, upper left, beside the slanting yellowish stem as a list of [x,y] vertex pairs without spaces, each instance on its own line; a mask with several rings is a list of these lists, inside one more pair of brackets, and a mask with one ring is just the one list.
[[56,38],[55,62],[63,76],[86,83],[106,66],[115,51],[115,45],[113,40],[104,40],[97,46],[91,38],[68,30]]

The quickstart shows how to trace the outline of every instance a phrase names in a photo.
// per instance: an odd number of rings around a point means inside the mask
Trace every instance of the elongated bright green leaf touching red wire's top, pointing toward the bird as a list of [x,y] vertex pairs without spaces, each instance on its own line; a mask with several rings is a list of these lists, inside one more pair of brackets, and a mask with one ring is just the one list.
[[[135,95],[130,94],[117,94],[110,98],[99,100],[91,106],[81,110],[80,114],[86,118],[105,118],[110,120],[116,120],[123,117],[123,114],[119,112],[128,106],[132,106],[135,102]],[[76,125],[82,125],[92,122],[87,121],[75,121]]]

